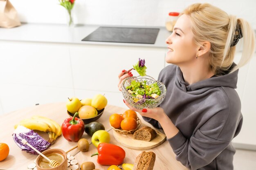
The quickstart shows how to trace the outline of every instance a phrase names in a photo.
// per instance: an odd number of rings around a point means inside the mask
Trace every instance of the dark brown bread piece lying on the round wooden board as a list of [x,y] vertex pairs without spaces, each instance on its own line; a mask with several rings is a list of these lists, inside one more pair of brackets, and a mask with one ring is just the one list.
[[157,132],[155,132],[154,129],[148,126],[143,126],[134,132],[133,139],[151,141],[156,136]]

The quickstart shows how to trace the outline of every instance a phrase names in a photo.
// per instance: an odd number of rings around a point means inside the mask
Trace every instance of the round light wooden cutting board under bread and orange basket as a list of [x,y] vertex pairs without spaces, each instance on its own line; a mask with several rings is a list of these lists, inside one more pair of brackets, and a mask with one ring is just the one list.
[[115,139],[119,144],[125,146],[126,148],[136,149],[136,150],[146,150],[146,149],[155,148],[161,145],[166,139],[166,135],[164,135],[162,132],[159,132],[158,130],[155,130],[157,132],[157,136],[151,141],[135,140],[132,138],[133,134],[121,135],[117,133],[115,130],[112,130],[112,131]]

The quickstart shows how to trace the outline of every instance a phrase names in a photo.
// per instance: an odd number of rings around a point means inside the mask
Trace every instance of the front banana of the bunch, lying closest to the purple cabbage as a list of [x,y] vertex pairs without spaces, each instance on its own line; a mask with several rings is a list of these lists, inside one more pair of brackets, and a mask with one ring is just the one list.
[[23,119],[18,124],[16,124],[14,128],[17,128],[18,125],[25,126],[26,128],[29,128],[31,130],[39,130],[43,132],[51,131],[51,128],[48,126],[48,124],[36,119]]

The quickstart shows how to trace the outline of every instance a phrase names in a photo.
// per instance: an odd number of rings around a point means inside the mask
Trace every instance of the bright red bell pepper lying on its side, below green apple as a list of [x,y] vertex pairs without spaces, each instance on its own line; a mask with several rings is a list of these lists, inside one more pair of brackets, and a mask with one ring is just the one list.
[[97,162],[101,165],[120,165],[125,158],[125,151],[123,148],[114,144],[100,143],[98,152],[91,155],[98,155]]

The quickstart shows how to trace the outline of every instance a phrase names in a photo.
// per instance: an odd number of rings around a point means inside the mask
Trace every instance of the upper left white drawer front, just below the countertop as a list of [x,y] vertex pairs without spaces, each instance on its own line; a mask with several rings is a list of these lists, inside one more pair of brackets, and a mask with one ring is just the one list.
[[0,82],[73,88],[68,46],[0,42]]

